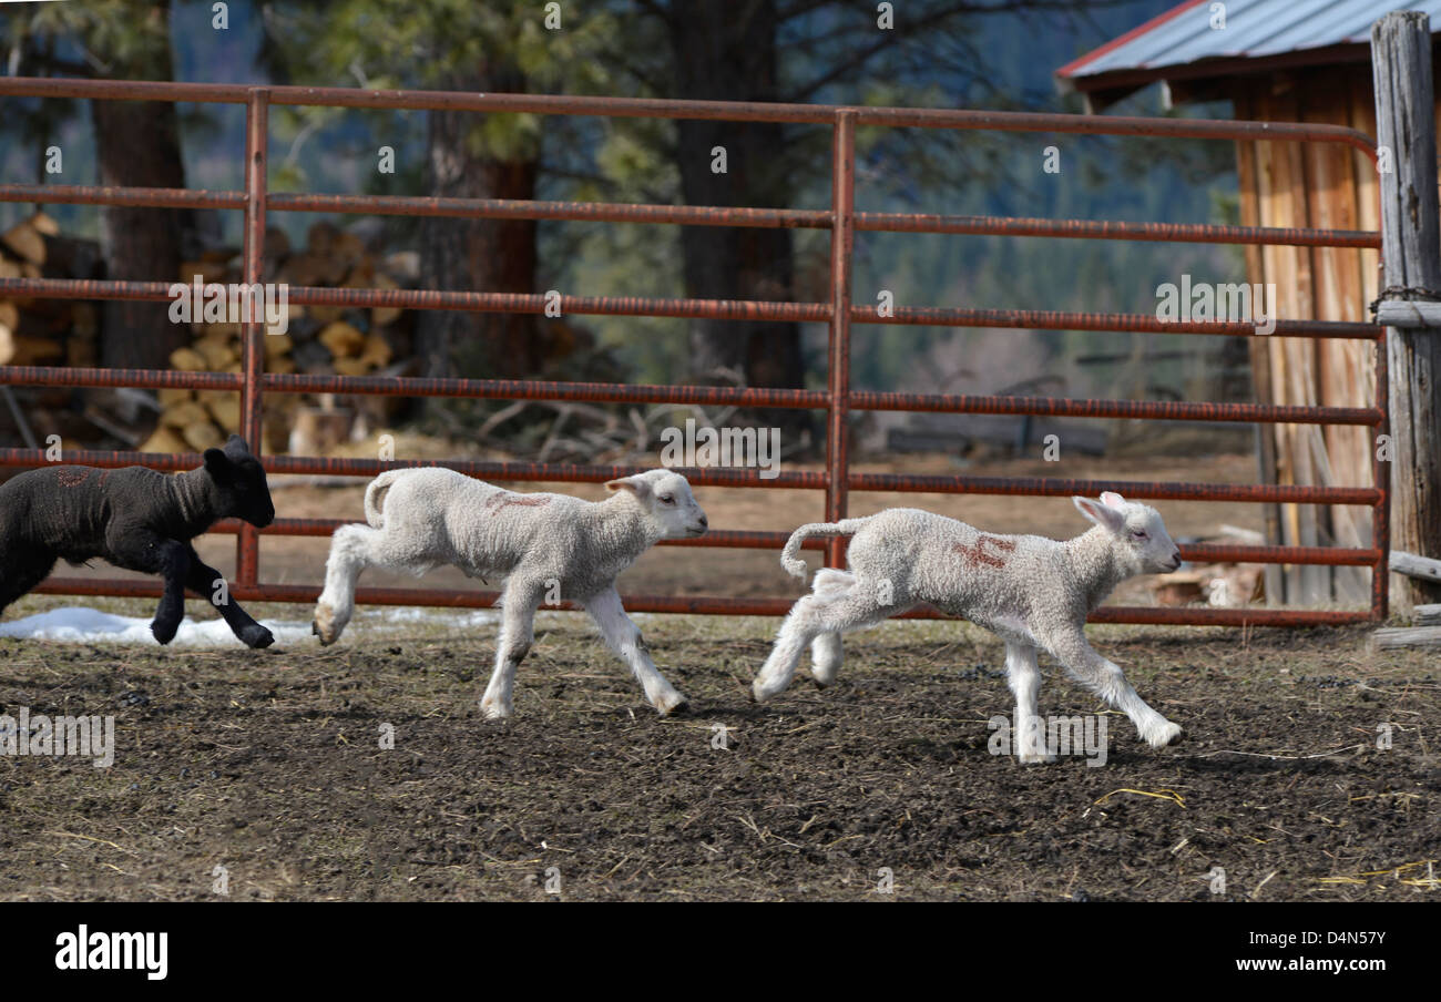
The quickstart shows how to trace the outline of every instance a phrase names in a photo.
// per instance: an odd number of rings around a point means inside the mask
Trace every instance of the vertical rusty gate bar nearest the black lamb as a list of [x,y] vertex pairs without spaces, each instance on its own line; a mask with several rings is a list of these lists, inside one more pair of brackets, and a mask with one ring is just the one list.
[[[265,151],[269,136],[269,91],[256,87],[245,104],[245,267],[246,288],[265,280]],[[249,301],[254,304],[255,297]],[[261,454],[261,392],[265,368],[265,323],[254,313],[241,324],[241,434]],[[242,523],[235,544],[235,578],[254,585],[259,578],[259,536]]]

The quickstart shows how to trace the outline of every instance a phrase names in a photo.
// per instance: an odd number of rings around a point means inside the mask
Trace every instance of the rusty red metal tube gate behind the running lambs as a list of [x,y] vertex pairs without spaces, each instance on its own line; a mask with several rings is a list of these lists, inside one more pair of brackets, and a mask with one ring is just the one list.
[[[239,104],[246,110],[245,190],[210,192],[153,187],[101,187],[61,185],[0,185],[3,202],[124,205],[151,208],[233,209],[245,213],[242,281],[261,283],[265,228],[269,212],[327,212],[367,215],[450,216],[484,219],[561,219],[621,223],[679,223],[692,226],[808,228],[831,231],[830,298],[824,303],[752,300],[659,300],[635,297],[561,297],[563,313],[648,317],[706,317],[723,320],[780,320],[827,323],[830,327],[827,388],[746,389],[682,385],[625,385],[539,382],[503,379],[424,379],[380,376],[280,375],[264,372],[264,326],[242,326],[239,373],[171,372],[150,369],[91,369],[56,366],[0,366],[0,385],[20,386],[131,386],[238,391],[242,434],[258,450],[261,396],[271,394],[375,394],[402,396],[468,396],[487,399],[550,399],[627,404],[709,404],[767,408],[808,408],[827,414],[824,471],[781,473],[759,479],[758,471],[686,469],[695,484],[723,487],[813,489],[826,492],[826,518],[846,516],[847,495],[859,492],[944,492],[986,495],[1098,495],[1115,490],[1147,500],[1210,500],[1306,505],[1359,505],[1372,509],[1372,545],[1342,546],[1231,546],[1189,545],[1190,561],[1254,561],[1267,564],[1321,564],[1369,567],[1372,601],[1366,610],[1314,608],[1203,608],[1203,607],[1102,607],[1092,621],[1183,623],[1208,626],[1303,626],[1379,620],[1386,614],[1388,487],[1385,470],[1373,466],[1369,487],[1298,484],[1213,484],[1174,482],[1069,480],[1059,477],[909,476],[852,473],[847,456],[847,417],[852,411],[931,411],[948,414],[1007,414],[1084,418],[1143,418],[1154,421],[1225,421],[1252,424],[1363,425],[1386,430],[1388,381],[1383,329],[1365,323],[1317,320],[1277,322],[1271,337],[1346,337],[1370,340],[1376,353],[1375,407],[1294,407],[1267,404],[1153,402],[1125,399],[1072,399],[1052,396],[981,396],[860,392],[850,389],[850,326],[937,324],[955,327],[1022,327],[1038,330],[1148,332],[1164,334],[1258,336],[1245,322],[1163,322],[1144,314],[1058,313],[1038,310],[968,310],[895,307],[882,316],[878,307],[852,300],[850,274],[855,234],[978,234],[1124,239],[1205,244],[1275,244],[1295,247],[1378,248],[1380,236],[1369,231],[1280,229],[1261,226],[1176,225],[1078,219],[1019,219],[1001,216],[909,215],[855,210],[856,130],[863,125],[895,128],[1000,130],[1133,136],[1153,138],[1314,141],[1350,146],[1376,160],[1375,141],[1366,134],[1320,124],[1246,121],[1183,121],[1172,118],[1105,118],[1065,114],[948,111],[918,108],[865,108],[808,104],[745,104],[725,101],[663,101],[631,98],[572,98],[530,94],[458,94],[444,91],[369,91],[310,87],[246,87],[173,82],[82,81],[55,78],[0,78],[6,97],[184,101]],[[396,198],[360,195],[271,193],[267,190],[268,117],[272,105],[339,108],[402,108],[416,111],[527,112],[540,115],[607,115],[646,118],[706,118],[830,125],[833,130],[830,210],[749,209],[672,205],[618,205],[574,202],[516,202],[484,199]],[[101,300],[167,300],[170,281],[81,281],[53,278],[0,278],[0,296]],[[290,301],[301,306],[401,307],[415,310],[477,310],[488,313],[542,313],[542,296],[477,291],[427,291],[385,288],[290,287]],[[66,451],[63,461],[92,466],[144,464],[182,470],[199,464],[195,454]],[[0,464],[42,466],[45,453],[35,448],[0,448]],[[372,477],[382,470],[428,463],[275,456],[265,461],[271,473],[343,474]],[[602,482],[638,471],[617,466],[546,463],[444,463],[487,480]],[[277,519],[265,532],[290,536],[327,536],[339,520]],[[256,531],[222,522],[216,532],[238,533],[236,580],[239,600],[310,603],[318,587],[267,584],[259,580]],[[778,549],[787,532],[712,532],[684,546],[744,546]],[[830,562],[843,558],[844,542],[813,541]],[[159,582],[128,580],[52,578],[40,591],[76,595],[159,595]],[[496,593],[428,588],[360,588],[360,603],[405,606],[486,607]],[[728,598],[720,595],[630,595],[634,611],[720,613],[742,616],[782,614],[788,598]],[[935,616],[916,610],[911,616]]]

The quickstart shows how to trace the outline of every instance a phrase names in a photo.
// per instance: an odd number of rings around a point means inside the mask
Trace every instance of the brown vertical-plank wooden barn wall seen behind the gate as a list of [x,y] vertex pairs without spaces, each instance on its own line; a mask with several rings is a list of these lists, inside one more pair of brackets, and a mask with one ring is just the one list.
[[[1249,78],[1233,91],[1235,117],[1353,125],[1375,134],[1370,68],[1324,68]],[[1239,143],[1241,222],[1258,226],[1376,229],[1378,187],[1370,161],[1337,144]],[[1252,283],[1274,284],[1287,320],[1369,319],[1376,297],[1376,251],[1249,247]],[[1373,404],[1375,347],[1366,342],[1257,339],[1257,395],[1264,402],[1323,407]],[[1261,430],[1264,474],[1277,483],[1369,486],[1369,428],[1270,425]],[[1265,437],[1270,435],[1270,441]],[[1267,469],[1268,467],[1268,469]],[[1294,546],[1368,546],[1370,510],[1319,505],[1271,506],[1274,542]],[[1284,567],[1267,578],[1272,601],[1365,604],[1365,568]]]

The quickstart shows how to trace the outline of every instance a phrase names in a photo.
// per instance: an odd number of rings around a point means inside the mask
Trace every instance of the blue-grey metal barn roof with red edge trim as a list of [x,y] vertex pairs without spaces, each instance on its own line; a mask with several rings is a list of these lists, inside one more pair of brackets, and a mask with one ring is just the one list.
[[[1308,49],[1369,45],[1370,26],[1392,10],[1419,10],[1441,30],[1441,0],[1226,0],[1225,29],[1212,29],[1210,0],[1186,0],[1099,49],[1066,63],[1056,76],[1082,91],[1107,81],[1161,79],[1206,61],[1265,61]],[[1314,53],[1321,56],[1323,53]],[[1223,63],[1218,63],[1221,71]]]

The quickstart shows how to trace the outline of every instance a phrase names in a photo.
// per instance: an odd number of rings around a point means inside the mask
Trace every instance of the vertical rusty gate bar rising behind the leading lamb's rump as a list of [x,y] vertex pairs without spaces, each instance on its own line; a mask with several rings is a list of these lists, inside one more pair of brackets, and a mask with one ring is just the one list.
[[[850,258],[855,249],[856,212],[856,112],[836,112],[830,177],[830,345],[827,353],[830,408],[826,411],[826,520],[846,518],[850,463],[847,414],[850,409]],[[846,541],[833,538],[826,562],[844,567]]]

